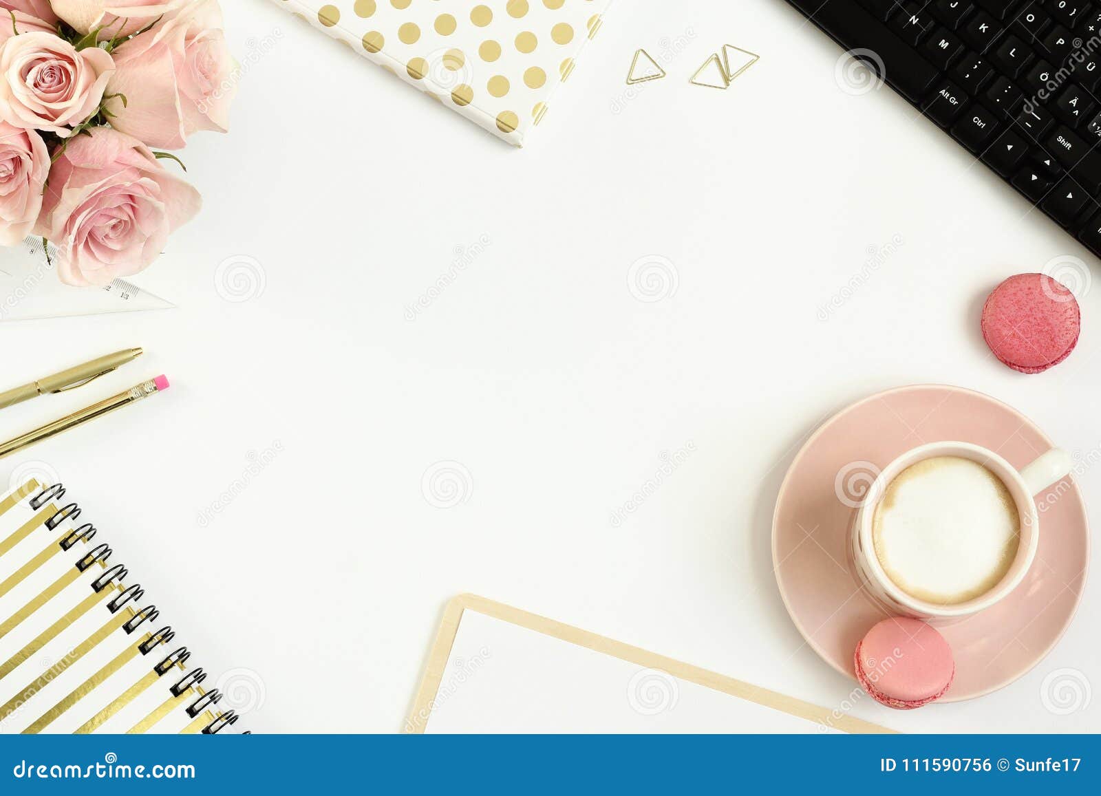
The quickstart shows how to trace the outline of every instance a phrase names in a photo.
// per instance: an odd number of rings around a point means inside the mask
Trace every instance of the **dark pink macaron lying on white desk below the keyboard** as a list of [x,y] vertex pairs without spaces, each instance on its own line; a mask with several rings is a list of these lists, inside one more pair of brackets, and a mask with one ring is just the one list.
[[1065,360],[1078,342],[1075,294],[1046,274],[1010,276],[986,297],[982,336],[1002,362],[1039,373]]

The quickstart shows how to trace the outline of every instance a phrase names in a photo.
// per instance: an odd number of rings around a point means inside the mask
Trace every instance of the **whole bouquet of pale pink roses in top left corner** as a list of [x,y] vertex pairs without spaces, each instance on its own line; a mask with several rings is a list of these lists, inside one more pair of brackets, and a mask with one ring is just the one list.
[[72,285],[144,269],[201,204],[164,150],[226,131],[233,69],[217,0],[0,0],[0,244]]

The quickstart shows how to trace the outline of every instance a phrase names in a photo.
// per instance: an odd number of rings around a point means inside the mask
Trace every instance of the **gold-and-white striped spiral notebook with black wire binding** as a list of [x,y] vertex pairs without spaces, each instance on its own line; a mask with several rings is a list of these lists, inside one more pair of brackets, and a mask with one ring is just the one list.
[[209,674],[64,497],[32,479],[0,498],[0,734],[232,728]]

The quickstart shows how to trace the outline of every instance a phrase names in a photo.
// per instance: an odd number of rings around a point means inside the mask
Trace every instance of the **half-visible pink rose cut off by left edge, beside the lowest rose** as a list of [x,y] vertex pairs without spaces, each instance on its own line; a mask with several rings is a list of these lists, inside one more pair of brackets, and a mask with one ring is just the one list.
[[50,151],[42,137],[0,122],[0,246],[15,246],[31,233],[47,174]]

